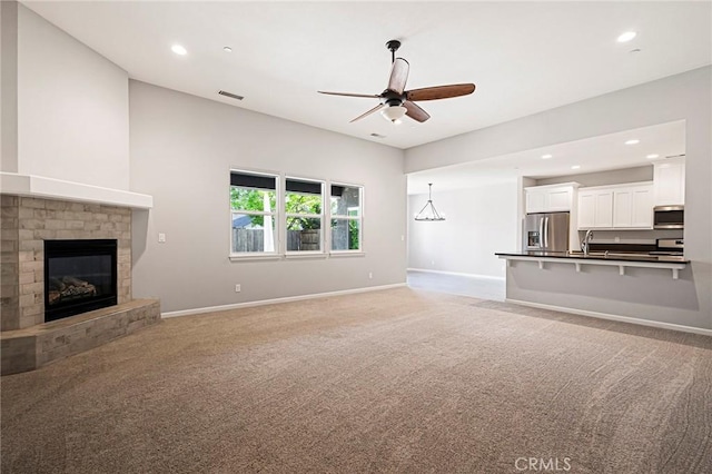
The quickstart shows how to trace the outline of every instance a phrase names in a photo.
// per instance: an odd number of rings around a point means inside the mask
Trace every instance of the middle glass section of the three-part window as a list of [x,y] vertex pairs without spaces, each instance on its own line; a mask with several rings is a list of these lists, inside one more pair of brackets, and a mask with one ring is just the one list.
[[323,251],[324,198],[323,184],[287,178],[285,214],[287,251]]

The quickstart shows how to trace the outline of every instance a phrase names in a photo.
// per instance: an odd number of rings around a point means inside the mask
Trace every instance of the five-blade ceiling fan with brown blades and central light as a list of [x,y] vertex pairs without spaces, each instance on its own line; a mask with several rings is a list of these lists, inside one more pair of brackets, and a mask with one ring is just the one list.
[[352,122],[360,120],[364,117],[372,115],[380,110],[380,113],[389,121],[399,124],[403,116],[408,116],[413,120],[424,122],[429,119],[431,116],[423,110],[415,102],[421,100],[437,100],[448,99],[451,97],[467,96],[475,90],[474,83],[453,83],[449,86],[435,86],[425,87],[423,89],[405,90],[405,83],[408,80],[408,70],[411,66],[408,61],[403,58],[396,58],[396,51],[400,48],[400,41],[390,40],[386,42],[386,48],[390,51],[390,77],[388,78],[388,87],[380,93],[367,95],[367,93],[348,93],[348,92],[325,92],[319,90],[319,93],[328,93],[330,96],[345,96],[345,97],[365,97],[379,99],[378,103],[373,109],[359,115]]

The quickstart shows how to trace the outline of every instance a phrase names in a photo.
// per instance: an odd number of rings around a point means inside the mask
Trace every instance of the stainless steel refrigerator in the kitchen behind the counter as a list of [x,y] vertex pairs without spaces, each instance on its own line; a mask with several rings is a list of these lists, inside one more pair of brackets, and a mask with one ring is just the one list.
[[527,214],[524,218],[523,251],[568,250],[568,213]]

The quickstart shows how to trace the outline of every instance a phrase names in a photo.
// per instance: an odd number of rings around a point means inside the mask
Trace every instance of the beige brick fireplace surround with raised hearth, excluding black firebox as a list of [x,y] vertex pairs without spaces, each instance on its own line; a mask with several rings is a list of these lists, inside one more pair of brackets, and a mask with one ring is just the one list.
[[[0,199],[2,374],[37,368],[160,320],[157,300],[131,299],[130,208],[13,195]],[[98,239],[116,240],[118,305],[48,322],[46,241]]]

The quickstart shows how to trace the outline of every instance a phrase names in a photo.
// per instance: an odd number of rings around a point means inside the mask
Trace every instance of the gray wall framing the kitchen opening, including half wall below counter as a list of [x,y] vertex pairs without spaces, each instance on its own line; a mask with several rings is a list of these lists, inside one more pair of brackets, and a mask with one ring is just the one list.
[[[599,273],[591,274],[585,280],[581,274],[568,275],[564,271],[540,271],[534,277],[527,266],[520,265],[507,269],[507,297],[712,328],[711,85],[712,68],[704,67],[412,148],[406,151],[406,171],[686,120],[684,239],[685,256],[692,263],[681,273],[680,280],[672,280],[666,270],[646,270],[660,274],[640,278],[631,275],[624,280],[607,278]],[[538,271],[535,265],[534,268]],[[581,279],[574,285],[572,278]],[[595,290],[591,292],[591,288]],[[660,298],[640,296],[651,293],[665,295],[664,305],[659,302]]]

